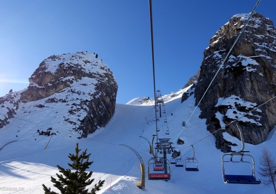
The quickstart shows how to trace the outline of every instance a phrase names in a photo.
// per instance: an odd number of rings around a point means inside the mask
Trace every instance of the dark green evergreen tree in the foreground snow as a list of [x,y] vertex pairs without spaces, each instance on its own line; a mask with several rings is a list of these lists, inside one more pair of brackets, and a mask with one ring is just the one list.
[[[85,170],[89,168],[89,165],[93,163],[89,162],[89,157],[91,154],[86,153],[87,149],[83,151],[80,155],[79,144],[77,143],[76,153],[69,154],[68,158],[72,161],[72,163],[68,163],[68,165],[74,169],[75,171],[71,171],[71,169],[64,169],[63,167],[57,165],[59,172],[61,174],[56,174],[57,179],[51,177],[51,181],[54,183],[54,186],[63,193],[93,193],[95,194],[97,190],[100,190],[100,187],[103,186],[104,180],[99,181],[98,184],[95,184],[94,188],[88,192],[86,189],[94,179],[90,179],[93,172],[86,173]],[[51,191],[51,188],[47,188],[44,184],[42,184],[45,194],[56,194],[57,192]]]

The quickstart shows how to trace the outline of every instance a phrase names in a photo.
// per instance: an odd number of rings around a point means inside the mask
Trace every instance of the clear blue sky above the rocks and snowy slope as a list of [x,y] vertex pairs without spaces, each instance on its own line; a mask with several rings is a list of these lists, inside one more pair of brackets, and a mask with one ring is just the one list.
[[[156,89],[181,89],[210,38],[257,0],[152,0]],[[276,1],[257,12],[276,22]],[[28,86],[39,63],[63,53],[97,53],[112,70],[117,103],[153,97],[148,0],[0,0],[0,96]]]

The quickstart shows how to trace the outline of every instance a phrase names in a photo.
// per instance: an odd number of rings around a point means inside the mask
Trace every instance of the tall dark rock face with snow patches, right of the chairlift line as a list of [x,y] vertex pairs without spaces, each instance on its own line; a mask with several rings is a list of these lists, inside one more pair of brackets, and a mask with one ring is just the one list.
[[[195,86],[196,104],[214,78],[227,52],[249,14],[237,14],[219,29],[205,49],[198,83]],[[276,94],[276,30],[269,18],[255,13],[249,20],[231,55],[226,59],[199,107],[201,118],[207,118],[208,130],[225,126]],[[276,125],[275,100],[239,119],[245,142],[258,144],[266,140]],[[226,132],[239,137],[237,127]],[[215,133],[216,147],[230,151],[231,142],[225,132]]]

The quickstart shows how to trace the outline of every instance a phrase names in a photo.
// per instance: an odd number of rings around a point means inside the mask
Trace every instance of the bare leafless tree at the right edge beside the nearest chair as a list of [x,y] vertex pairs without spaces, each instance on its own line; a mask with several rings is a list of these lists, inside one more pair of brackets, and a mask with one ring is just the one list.
[[276,171],[276,163],[266,148],[263,148],[260,164],[262,166],[260,167],[259,174],[263,177],[263,183],[268,185],[273,184],[274,191],[276,193],[276,174],[274,173]]

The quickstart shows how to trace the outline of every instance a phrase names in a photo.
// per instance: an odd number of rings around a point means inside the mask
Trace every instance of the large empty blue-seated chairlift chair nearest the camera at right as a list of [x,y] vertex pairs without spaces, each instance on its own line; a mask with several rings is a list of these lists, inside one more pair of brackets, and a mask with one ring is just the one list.
[[[231,154],[224,154],[222,156],[222,175],[223,175],[223,181],[224,183],[233,183],[233,184],[261,184],[261,180],[257,179],[255,176],[255,162],[254,162],[254,158],[249,155],[249,154],[244,154],[246,152],[249,151],[243,151],[244,150],[244,139],[243,139],[243,133],[242,131],[239,129],[238,125],[236,124],[239,132],[240,132],[240,136],[241,136],[241,142],[242,142],[242,148],[239,152],[232,152]],[[225,160],[224,157],[225,156],[230,156],[230,160]],[[233,158],[234,156],[240,156],[240,160],[239,161],[234,161]],[[244,161],[244,156],[248,157],[252,160],[252,163],[248,162],[248,161]],[[251,175],[225,175],[224,172],[224,163],[225,162],[236,162],[236,163],[248,163],[250,168],[251,168]]]

